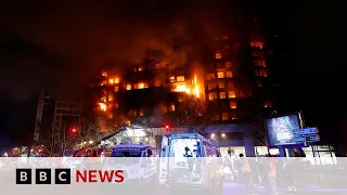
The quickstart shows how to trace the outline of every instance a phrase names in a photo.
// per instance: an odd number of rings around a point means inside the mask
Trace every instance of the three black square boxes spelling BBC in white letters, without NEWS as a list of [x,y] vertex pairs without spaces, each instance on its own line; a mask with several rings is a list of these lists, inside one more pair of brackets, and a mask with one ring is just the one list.
[[[16,184],[33,184],[33,169],[16,169]],[[70,184],[70,169],[54,169],[54,184]],[[52,184],[52,169],[35,169],[35,184]]]

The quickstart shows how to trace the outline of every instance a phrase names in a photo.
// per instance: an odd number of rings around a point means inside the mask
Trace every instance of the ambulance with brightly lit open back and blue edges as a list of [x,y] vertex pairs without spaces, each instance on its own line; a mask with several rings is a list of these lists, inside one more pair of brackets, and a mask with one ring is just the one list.
[[[193,155],[187,155],[187,151]],[[159,184],[172,190],[222,192],[222,161],[211,140],[197,133],[163,136],[159,155]]]

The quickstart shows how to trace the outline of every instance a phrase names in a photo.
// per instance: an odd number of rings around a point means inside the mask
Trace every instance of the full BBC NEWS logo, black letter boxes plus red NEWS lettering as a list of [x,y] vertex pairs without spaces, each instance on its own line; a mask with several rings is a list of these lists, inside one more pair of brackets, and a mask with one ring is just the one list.
[[[54,184],[72,184],[70,169],[54,169]],[[16,184],[33,184],[31,169],[16,169]],[[123,170],[76,170],[76,183],[121,183]],[[52,184],[52,169],[35,169],[35,184]]]

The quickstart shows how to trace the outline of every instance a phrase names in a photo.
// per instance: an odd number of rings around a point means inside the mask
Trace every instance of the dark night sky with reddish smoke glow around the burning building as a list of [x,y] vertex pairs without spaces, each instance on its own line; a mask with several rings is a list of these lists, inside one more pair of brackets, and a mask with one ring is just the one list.
[[[149,48],[176,57],[172,37],[180,40],[178,51],[192,51],[198,44],[194,37],[222,31],[222,22],[228,23],[240,6],[228,0],[52,2],[0,3],[0,147],[28,136],[40,89],[79,100],[83,84],[103,64],[138,62]],[[281,93],[287,107],[303,109],[309,126],[324,127],[325,132],[342,129],[347,100],[346,5],[264,2],[256,8],[283,16],[285,22],[280,23],[298,69]]]

